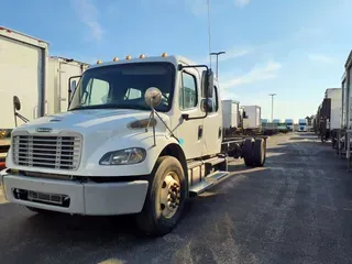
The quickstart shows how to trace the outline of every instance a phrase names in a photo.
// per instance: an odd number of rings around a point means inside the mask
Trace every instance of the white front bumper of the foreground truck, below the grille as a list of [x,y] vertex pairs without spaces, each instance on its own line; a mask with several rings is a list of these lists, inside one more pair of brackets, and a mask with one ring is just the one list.
[[[128,183],[76,183],[33,178],[9,173],[2,174],[6,198],[10,202],[45,210],[89,216],[114,216],[140,212],[143,208],[147,180]],[[24,193],[41,194],[42,197],[68,197],[65,206],[43,200],[30,200],[19,196]]]

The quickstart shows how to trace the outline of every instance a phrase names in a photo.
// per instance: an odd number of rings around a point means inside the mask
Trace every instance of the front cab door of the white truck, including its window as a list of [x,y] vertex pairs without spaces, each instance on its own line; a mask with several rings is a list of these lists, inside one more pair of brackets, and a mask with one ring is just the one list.
[[[205,113],[200,110],[201,88],[199,72],[187,68],[180,72],[178,87],[176,86],[176,106],[173,127],[187,160],[201,156],[205,139]],[[185,117],[189,117],[186,120]],[[193,119],[198,118],[198,119]],[[174,125],[175,124],[175,125]]]

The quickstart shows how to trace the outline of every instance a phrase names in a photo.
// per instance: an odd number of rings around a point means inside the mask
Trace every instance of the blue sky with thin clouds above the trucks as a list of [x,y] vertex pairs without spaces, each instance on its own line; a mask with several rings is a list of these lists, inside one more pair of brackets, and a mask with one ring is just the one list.
[[[207,54],[207,0],[0,0],[0,24],[87,63],[128,54]],[[351,0],[210,0],[211,50],[222,98],[262,106],[263,118],[312,114],[340,87],[352,48]]]

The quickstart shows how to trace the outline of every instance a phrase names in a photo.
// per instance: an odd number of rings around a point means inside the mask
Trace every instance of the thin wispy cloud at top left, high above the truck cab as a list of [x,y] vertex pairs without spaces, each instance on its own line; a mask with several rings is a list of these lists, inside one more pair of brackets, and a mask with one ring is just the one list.
[[103,29],[98,21],[99,10],[90,0],[73,0],[76,13],[80,21],[90,30],[90,36],[96,41],[101,41]]

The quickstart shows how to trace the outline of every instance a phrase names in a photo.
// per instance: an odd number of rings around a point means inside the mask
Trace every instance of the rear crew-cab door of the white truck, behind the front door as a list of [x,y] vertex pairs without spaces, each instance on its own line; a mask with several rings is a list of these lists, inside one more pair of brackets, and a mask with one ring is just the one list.
[[222,112],[218,86],[213,86],[212,98],[208,100],[208,116],[204,119],[205,142],[202,156],[215,155],[221,151]]

